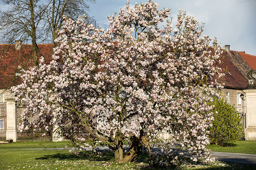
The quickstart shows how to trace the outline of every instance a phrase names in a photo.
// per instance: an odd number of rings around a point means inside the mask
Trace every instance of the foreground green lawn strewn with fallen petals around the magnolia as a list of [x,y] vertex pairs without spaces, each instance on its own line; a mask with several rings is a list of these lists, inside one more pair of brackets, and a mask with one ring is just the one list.
[[[0,145],[0,169],[167,169],[138,162],[118,164],[112,153],[79,157],[68,150],[27,150],[26,148],[64,148],[69,142],[15,142]],[[216,162],[212,165],[185,164],[177,169],[256,169],[256,166]]]

